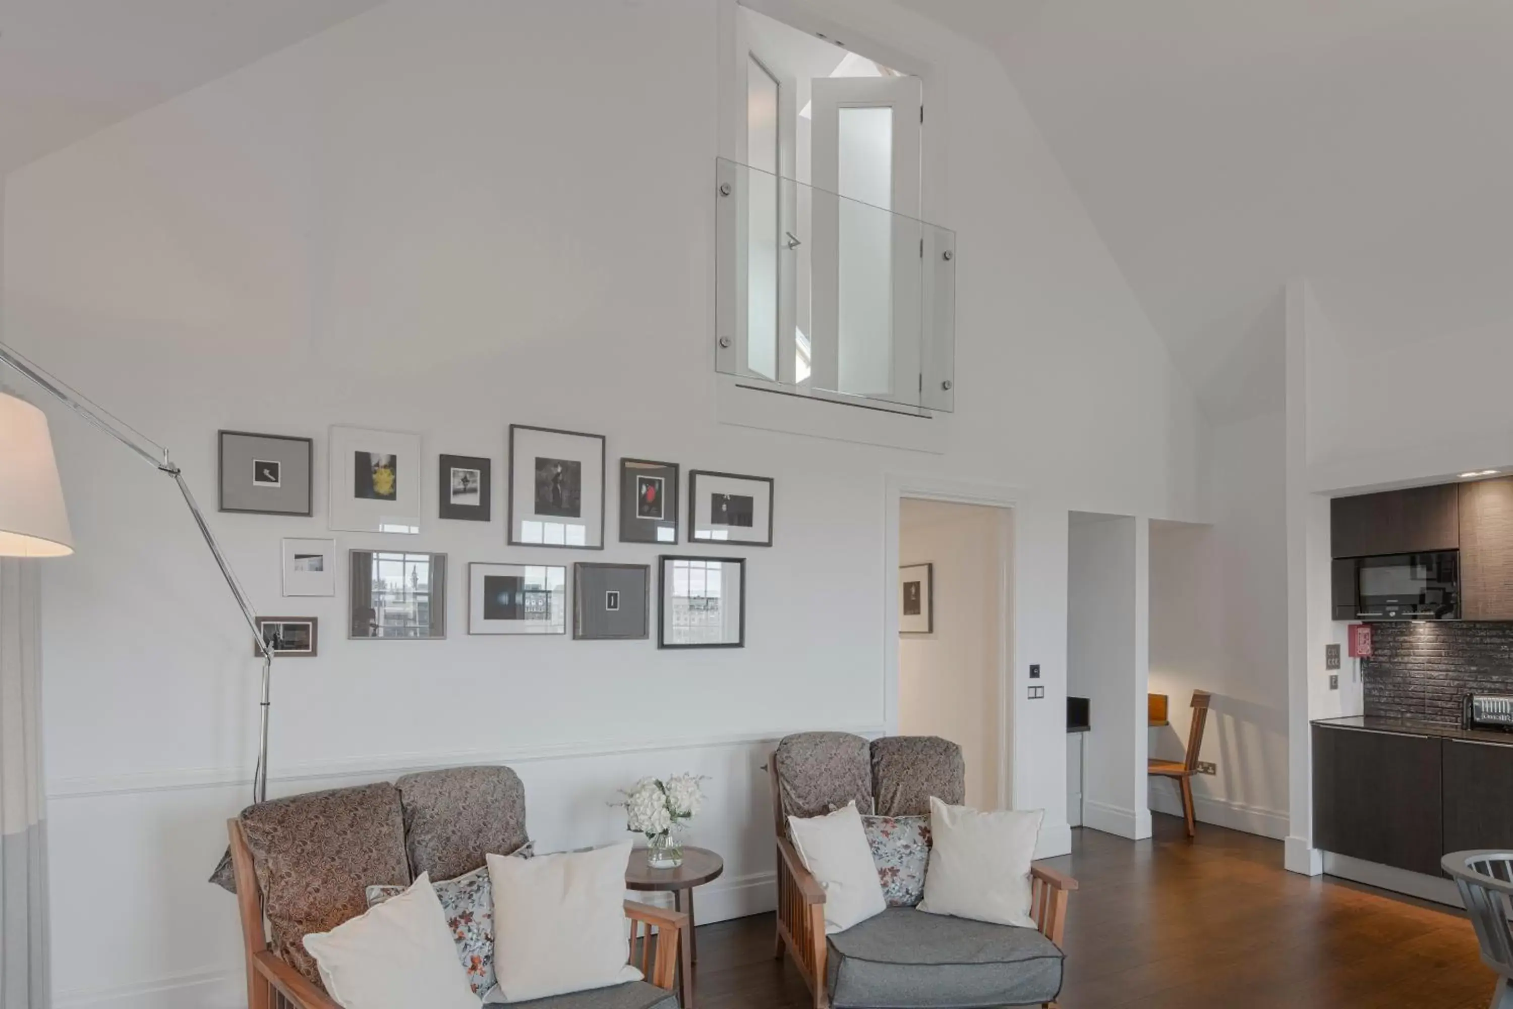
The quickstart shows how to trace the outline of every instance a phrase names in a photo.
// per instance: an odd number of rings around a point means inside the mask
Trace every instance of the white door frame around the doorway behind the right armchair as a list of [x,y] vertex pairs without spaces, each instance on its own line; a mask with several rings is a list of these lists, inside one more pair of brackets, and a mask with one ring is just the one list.
[[1014,511],[1023,493],[999,484],[888,473],[884,478],[882,725],[899,734],[899,517],[905,498],[1000,510],[999,537],[999,808],[1014,800]]

